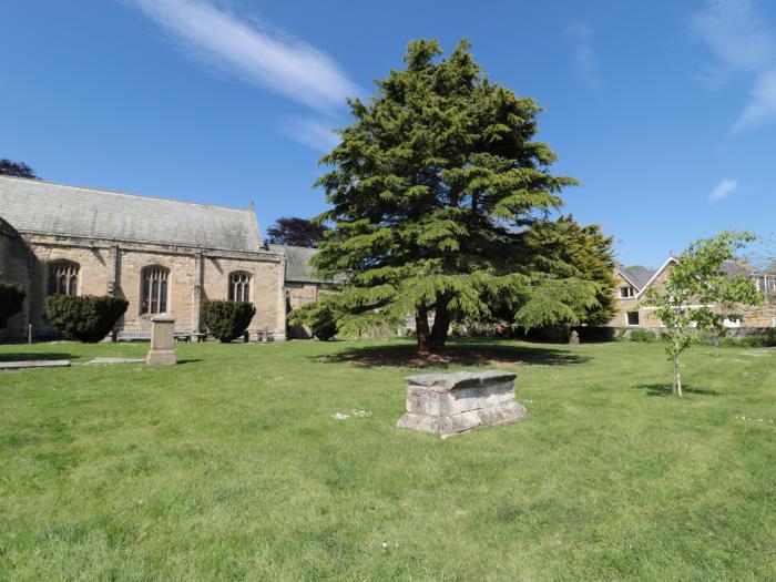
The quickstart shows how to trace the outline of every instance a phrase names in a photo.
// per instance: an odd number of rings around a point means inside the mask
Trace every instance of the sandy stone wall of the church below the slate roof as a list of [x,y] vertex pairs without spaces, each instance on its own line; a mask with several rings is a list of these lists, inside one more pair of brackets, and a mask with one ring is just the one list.
[[[0,265],[7,265],[9,279],[24,278],[20,267],[22,252],[10,248],[8,237],[0,237]],[[170,269],[167,313],[175,318],[176,331],[204,329],[200,319],[202,298],[226,299],[228,276],[234,270],[251,274],[251,302],[256,306],[248,330],[267,329],[275,339],[285,339],[286,309],[284,300],[283,257],[277,253],[229,252],[182,246],[115,241],[86,241],[75,237],[22,235],[33,257],[29,277],[29,317],[33,337],[53,337],[57,330],[45,320],[43,302],[49,288],[49,264],[57,259],[80,265],[79,295],[115,295],[130,305],[116,330],[150,331],[151,316],[141,314],[142,270],[149,266]],[[10,266],[8,266],[10,265]],[[0,269],[1,270],[1,269]],[[17,319],[17,318],[14,318]],[[14,323],[6,339],[21,339]]]

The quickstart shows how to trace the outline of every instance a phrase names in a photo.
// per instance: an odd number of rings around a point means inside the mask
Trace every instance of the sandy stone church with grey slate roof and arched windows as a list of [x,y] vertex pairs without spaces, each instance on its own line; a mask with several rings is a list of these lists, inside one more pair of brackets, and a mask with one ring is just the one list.
[[114,295],[130,305],[119,337],[144,337],[167,313],[203,331],[203,298],[248,300],[252,338],[286,337],[286,259],[262,244],[253,210],[0,176],[0,282],[27,292],[0,339],[55,337],[48,295]]

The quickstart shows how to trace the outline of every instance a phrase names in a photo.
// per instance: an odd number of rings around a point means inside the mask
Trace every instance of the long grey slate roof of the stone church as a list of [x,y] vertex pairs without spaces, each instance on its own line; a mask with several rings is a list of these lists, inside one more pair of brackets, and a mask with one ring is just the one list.
[[0,176],[0,216],[20,233],[262,251],[253,210]]

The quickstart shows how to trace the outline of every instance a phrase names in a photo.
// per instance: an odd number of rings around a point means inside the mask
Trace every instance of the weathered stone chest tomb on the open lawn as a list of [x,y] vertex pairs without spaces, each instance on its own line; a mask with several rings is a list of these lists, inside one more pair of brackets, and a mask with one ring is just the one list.
[[397,426],[442,438],[482,426],[517,422],[528,416],[514,401],[515,374],[461,371],[407,378],[407,413]]

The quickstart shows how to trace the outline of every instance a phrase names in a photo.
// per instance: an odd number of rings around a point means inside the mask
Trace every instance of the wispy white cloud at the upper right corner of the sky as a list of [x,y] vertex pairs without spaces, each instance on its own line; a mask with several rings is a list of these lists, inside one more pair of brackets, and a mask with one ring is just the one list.
[[752,0],[706,0],[691,23],[696,38],[717,58],[701,80],[711,88],[735,74],[754,75],[754,86],[732,133],[753,130],[776,119],[776,40],[757,16]]

